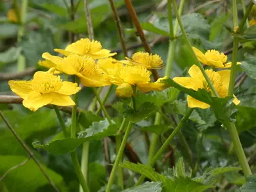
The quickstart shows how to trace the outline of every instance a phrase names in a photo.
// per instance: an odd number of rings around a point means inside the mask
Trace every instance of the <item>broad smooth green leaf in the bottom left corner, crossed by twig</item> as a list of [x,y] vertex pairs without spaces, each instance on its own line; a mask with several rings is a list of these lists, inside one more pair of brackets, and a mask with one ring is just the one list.
[[[27,157],[24,156],[0,155],[0,175],[3,176],[9,168],[26,161],[26,159]],[[41,166],[58,187],[63,187],[62,176],[47,168],[44,164],[41,164]],[[39,187],[49,185],[48,180],[32,159],[23,166],[9,172],[3,182],[7,186],[8,191],[20,192],[28,191],[28,189],[33,192],[37,191]]]

